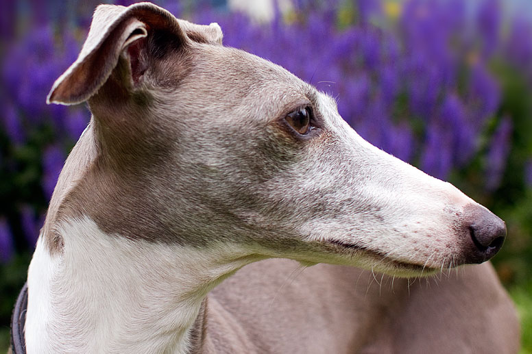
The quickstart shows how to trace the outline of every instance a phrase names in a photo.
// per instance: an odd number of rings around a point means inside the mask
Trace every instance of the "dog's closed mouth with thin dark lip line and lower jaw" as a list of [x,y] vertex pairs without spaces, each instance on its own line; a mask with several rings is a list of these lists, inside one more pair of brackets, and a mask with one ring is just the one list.
[[389,274],[398,273],[398,275],[402,275],[404,273],[410,273],[411,275],[420,276],[431,275],[433,273],[437,273],[440,270],[440,268],[433,268],[432,266],[428,266],[426,264],[416,264],[400,260],[394,260],[393,258],[389,257],[388,255],[385,255],[384,253],[368,249],[365,246],[350,244],[348,242],[343,242],[340,240],[325,240],[324,244],[328,245],[328,248],[330,248],[330,246],[333,246],[335,249],[335,253],[342,253],[348,255],[349,257],[354,257],[356,253],[361,253],[366,257],[370,257],[375,261],[375,264],[378,265],[378,267],[376,268],[386,268],[387,271],[385,273]]

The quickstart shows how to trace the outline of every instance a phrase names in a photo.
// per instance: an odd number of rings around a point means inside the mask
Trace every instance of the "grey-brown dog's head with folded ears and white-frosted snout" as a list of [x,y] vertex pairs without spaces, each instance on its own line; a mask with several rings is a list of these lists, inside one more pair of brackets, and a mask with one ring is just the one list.
[[[479,263],[502,220],[363,140],[335,101],[149,3],[101,5],[49,101],[88,101],[45,225],[420,275]],[[304,60],[304,59],[302,59]],[[55,243],[54,243],[55,242]]]

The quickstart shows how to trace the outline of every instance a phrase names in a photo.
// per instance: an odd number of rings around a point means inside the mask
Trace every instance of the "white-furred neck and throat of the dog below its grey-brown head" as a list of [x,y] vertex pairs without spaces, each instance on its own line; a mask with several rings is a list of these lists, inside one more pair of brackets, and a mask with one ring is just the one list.
[[258,260],[237,245],[189,246],[103,233],[89,218],[42,238],[29,268],[28,353],[186,353],[206,294]]

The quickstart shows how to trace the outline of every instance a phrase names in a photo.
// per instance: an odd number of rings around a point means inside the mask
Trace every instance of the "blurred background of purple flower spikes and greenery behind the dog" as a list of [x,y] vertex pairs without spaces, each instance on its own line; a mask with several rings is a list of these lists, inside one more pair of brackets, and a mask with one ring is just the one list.
[[[509,237],[493,262],[532,353],[532,1],[154,2],[219,23],[225,45],[329,92],[365,139],[503,218]],[[97,3],[5,1],[0,12],[0,352],[56,179],[90,118],[86,105],[45,99]]]

